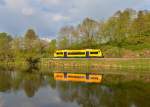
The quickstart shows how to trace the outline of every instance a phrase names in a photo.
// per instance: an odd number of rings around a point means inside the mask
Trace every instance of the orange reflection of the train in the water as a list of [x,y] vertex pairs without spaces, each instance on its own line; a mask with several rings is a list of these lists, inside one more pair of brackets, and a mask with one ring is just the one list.
[[72,82],[86,82],[86,83],[101,83],[101,74],[91,74],[91,73],[64,73],[55,72],[54,79],[59,81],[72,81]]

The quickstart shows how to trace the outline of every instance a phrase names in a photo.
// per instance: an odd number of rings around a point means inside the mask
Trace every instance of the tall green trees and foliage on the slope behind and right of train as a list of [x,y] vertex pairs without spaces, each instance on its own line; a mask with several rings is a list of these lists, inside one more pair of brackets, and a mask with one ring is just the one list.
[[86,18],[78,26],[63,27],[57,43],[59,49],[105,48],[106,57],[121,57],[124,49],[149,49],[150,12],[125,9],[106,21]]

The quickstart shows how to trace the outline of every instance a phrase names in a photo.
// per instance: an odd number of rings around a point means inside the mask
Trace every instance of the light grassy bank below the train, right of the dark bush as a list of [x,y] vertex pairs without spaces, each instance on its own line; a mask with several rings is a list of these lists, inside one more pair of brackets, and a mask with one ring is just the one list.
[[92,67],[141,69],[150,71],[150,58],[103,58],[103,59],[42,59],[42,65],[57,67]]

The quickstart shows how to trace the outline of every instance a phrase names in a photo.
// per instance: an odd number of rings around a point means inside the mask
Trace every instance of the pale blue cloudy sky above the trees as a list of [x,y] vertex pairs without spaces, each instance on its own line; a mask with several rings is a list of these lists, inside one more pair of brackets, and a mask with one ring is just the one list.
[[0,32],[22,36],[32,28],[40,37],[55,38],[63,26],[86,17],[106,20],[126,8],[150,10],[150,0],[0,0]]

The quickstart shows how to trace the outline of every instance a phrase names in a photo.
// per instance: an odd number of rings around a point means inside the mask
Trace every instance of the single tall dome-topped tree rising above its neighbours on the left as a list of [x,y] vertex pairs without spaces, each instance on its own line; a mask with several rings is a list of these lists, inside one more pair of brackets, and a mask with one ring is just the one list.
[[27,30],[24,36],[23,47],[24,59],[28,63],[28,65],[37,65],[40,57],[42,57],[43,44],[34,30]]

